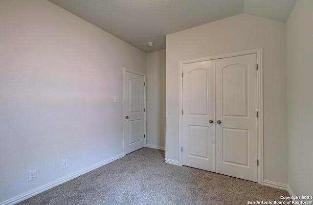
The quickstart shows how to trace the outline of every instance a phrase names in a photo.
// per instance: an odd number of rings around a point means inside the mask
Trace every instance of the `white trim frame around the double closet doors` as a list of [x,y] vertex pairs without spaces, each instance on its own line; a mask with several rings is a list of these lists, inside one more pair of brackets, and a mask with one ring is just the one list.
[[245,56],[249,54],[256,54],[258,72],[257,72],[257,157],[259,160],[258,166],[258,184],[263,185],[264,179],[264,159],[263,159],[263,48],[250,49],[245,51],[238,51],[234,53],[227,53],[215,56],[206,56],[201,58],[189,59],[179,61],[179,149],[178,149],[178,163],[182,166],[182,68],[184,64],[196,63],[206,60],[216,60],[219,58]]

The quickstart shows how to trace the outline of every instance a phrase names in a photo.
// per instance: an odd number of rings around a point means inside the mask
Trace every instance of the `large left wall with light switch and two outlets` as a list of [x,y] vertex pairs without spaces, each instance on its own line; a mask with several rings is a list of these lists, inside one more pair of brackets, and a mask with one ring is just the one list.
[[114,96],[146,54],[46,0],[1,0],[0,19],[1,203],[121,156]]

